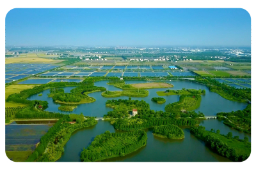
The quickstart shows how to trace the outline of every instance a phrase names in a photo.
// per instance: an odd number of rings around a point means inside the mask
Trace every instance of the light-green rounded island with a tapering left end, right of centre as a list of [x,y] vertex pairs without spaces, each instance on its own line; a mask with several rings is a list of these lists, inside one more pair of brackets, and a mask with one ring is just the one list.
[[195,110],[200,106],[201,96],[198,94],[182,94],[179,101],[167,104],[164,108],[168,112],[184,112]]

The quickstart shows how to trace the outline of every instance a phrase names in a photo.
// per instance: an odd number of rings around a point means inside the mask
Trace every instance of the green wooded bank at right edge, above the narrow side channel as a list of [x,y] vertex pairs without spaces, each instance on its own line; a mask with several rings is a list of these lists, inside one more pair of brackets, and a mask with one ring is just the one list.
[[223,124],[241,132],[251,133],[251,104],[248,104],[244,110],[221,112],[217,113],[217,116],[218,119],[224,120]]

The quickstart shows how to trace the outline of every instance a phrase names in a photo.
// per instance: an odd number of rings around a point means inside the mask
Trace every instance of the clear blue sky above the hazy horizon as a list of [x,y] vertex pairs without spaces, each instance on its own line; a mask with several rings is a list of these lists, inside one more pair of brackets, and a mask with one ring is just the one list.
[[18,9],[6,46],[250,46],[243,9]]

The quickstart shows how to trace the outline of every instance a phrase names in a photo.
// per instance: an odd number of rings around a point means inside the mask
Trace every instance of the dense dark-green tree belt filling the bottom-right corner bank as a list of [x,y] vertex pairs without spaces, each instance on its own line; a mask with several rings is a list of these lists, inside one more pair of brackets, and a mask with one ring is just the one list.
[[[225,143],[219,138],[220,134],[205,131],[205,127],[192,127],[190,129],[190,132],[191,134],[198,136],[200,139],[202,139],[205,142],[205,145],[211,148],[214,152],[222,155],[223,157],[227,157],[230,160],[241,162],[248,159],[248,157],[250,156],[250,153],[242,154],[237,152],[237,149],[234,148],[234,146],[230,146],[229,143]],[[234,140],[236,140],[237,143],[240,143],[239,145],[244,144],[246,145],[245,147],[250,147],[250,143],[238,141],[237,139]],[[235,146],[239,147],[239,145]]]

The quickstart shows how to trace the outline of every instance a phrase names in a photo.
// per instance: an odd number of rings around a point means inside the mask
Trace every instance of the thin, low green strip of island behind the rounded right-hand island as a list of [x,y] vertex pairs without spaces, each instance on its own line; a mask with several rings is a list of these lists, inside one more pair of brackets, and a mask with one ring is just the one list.
[[205,90],[185,89],[182,90],[165,90],[156,92],[158,96],[182,95],[182,94],[205,94]]

